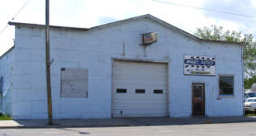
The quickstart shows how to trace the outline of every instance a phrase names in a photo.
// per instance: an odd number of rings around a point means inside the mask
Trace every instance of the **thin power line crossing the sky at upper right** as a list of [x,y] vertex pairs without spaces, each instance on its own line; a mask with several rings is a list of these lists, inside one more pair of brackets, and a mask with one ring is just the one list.
[[210,12],[216,12],[216,13],[223,13],[223,14],[229,14],[229,15],[234,15],[234,16],[240,16],[244,18],[249,18],[249,19],[256,19],[253,16],[249,15],[243,15],[243,14],[237,14],[233,12],[228,12],[228,11],[223,11],[223,10],[215,10],[215,9],[208,9],[208,8],[203,8],[203,7],[198,7],[198,6],[187,6],[187,5],[182,5],[182,4],[177,4],[177,3],[172,3],[172,2],[166,2],[166,1],[161,1],[161,0],[151,0],[155,1],[157,3],[162,3],[162,4],[168,4],[168,5],[174,5],[174,6],[183,6],[183,7],[190,7],[190,8],[195,8],[195,9],[200,9],[200,10],[206,10]]

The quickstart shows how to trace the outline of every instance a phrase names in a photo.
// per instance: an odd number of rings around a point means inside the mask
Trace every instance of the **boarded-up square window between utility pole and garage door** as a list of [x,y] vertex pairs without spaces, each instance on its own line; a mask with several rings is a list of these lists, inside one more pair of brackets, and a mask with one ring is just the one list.
[[61,68],[61,97],[88,96],[88,69]]

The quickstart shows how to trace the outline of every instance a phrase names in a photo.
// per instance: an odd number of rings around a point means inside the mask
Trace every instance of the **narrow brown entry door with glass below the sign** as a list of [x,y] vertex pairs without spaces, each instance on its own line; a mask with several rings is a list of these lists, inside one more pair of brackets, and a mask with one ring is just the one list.
[[192,84],[192,109],[193,116],[205,115],[205,84],[193,83]]

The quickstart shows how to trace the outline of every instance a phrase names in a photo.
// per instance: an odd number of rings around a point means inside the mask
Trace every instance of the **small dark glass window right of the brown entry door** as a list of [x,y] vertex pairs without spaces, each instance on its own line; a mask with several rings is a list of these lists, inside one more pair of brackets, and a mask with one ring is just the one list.
[[220,75],[220,95],[234,95],[234,76]]

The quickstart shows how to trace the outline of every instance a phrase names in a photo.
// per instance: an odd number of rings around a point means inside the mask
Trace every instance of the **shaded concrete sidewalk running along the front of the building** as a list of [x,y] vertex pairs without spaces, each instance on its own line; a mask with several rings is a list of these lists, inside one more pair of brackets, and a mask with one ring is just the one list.
[[256,122],[256,117],[132,117],[60,119],[54,120],[54,125],[47,125],[47,120],[0,120],[0,129],[163,126],[239,122]]

